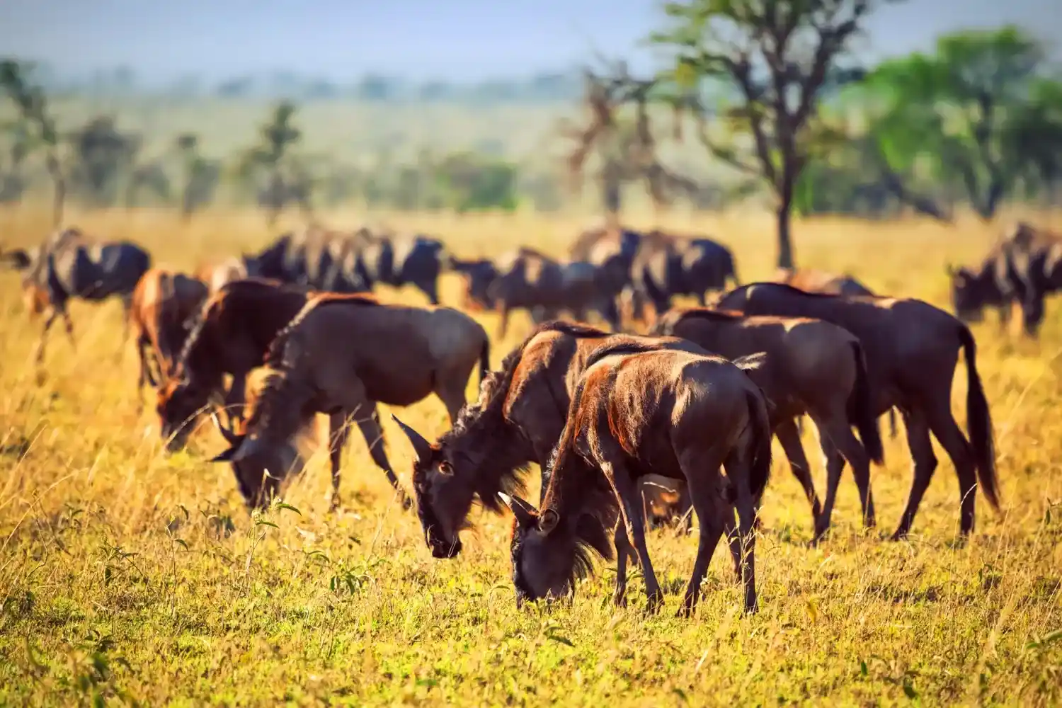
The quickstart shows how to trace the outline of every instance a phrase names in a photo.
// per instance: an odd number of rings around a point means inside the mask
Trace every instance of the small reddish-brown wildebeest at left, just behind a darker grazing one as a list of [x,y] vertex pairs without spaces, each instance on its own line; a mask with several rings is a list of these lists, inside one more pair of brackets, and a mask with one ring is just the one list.
[[[138,403],[141,402],[145,382],[157,386],[174,375],[177,356],[188,339],[191,318],[206,297],[206,284],[184,273],[153,267],[140,278],[133,291],[130,311],[140,359]],[[152,370],[152,361],[157,367],[157,376]]]

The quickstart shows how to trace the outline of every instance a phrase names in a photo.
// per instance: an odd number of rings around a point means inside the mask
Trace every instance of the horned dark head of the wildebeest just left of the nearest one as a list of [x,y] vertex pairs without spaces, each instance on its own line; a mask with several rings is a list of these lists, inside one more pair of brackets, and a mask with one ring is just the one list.
[[466,464],[451,446],[432,445],[397,416],[391,416],[409,437],[413,463],[413,494],[424,540],[436,558],[452,558],[461,552],[460,532],[472,508],[476,489],[466,474],[455,474],[455,466]]

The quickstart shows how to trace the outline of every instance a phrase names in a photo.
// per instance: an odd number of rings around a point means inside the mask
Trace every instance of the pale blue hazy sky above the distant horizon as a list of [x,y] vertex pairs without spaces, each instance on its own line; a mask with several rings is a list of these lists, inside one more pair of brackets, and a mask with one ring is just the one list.
[[[903,53],[940,32],[1004,22],[1062,37],[1058,6],[908,0],[868,22],[869,49]],[[646,66],[637,45],[660,18],[656,0],[0,0],[0,54],[156,79],[288,69],[478,80],[568,68],[593,48]]]

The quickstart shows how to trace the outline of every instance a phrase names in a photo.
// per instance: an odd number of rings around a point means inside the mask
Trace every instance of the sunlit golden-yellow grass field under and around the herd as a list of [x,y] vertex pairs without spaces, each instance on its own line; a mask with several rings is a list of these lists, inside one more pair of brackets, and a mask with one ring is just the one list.
[[[336,226],[364,214],[327,214]],[[193,267],[260,247],[274,232],[253,212],[73,213],[86,230],[149,246],[156,263]],[[585,223],[535,215],[384,215],[443,238],[459,255],[533,243],[562,254]],[[773,270],[769,214],[662,218],[731,245],[743,280]],[[654,222],[635,215],[635,226]],[[1047,217],[1041,223],[1051,224]],[[37,241],[46,212],[0,213],[5,246]],[[972,262],[996,230],[977,222],[800,221],[803,265],[850,271],[883,293],[947,306],[944,264]],[[458,283],[446,276],[443,299]],[[424,303],[382,290],[384,300]],[[314,457],[286,502],[252,518],[208,426],[191,451],[159,451],[153,401],[136,400],[136,359],[120,308],[78,304],[76,350],[56,327],[38,384],[18,279],[0,275],[0,705],[1059,705],[1062,703],[1062,314],[1049,305],[1039,343],[975,327],[978,368],[995,420],[1005,513],[983,497],[965,548],[958,484],[940,465],[909,541],[898,521],[910,462],[886,441],[875,468],[880,528],[863,533],[851,476],[832,536],[809,549],[800,487],[777,460],[757,543],[761,609],[744,617],[720,550],[692,621],[674,610],[695,537],[653,532],[668,592],[643,616],[612,604],[599,564],[572,606],[517,610],[510,518],[474,515],[463,553],[433,559],[412,513],[393,501],[357,435],[345,456],[344,508],[327,513],[328,476]],[[497,320],[484,315],[493,334]],[[525,335],[494,341],[495,365]],[[960,363],[955,410],[964,427]],[[473,395],[476,381],[469,382]],[[411,450],[384,415],[388,452],[410,489]],[[400,412],[426,435],[447,428],[429,399]],[[805,445],[824,473],[811,426]],[[887,430],[887,428],[886,428]],[[537,494],[537,470],[529,477]]]

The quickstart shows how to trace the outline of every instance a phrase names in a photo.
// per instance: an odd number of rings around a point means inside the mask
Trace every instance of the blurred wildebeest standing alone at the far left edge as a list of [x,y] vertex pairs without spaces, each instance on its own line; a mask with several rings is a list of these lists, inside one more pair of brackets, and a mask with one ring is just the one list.
[[79,229],[68,228],[36,248],[8,252],[4,259],[22,274],[31,313],[45,314],[35,353],[38,364],[44,361],[48,332],[56,318],[63,317],[73,345],[73,323],[67,305],[74,297],[100,301],[118,296],[129,339],[133,290],[151,267],[151,255],[140,246],[129,241],[97,243]]

